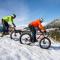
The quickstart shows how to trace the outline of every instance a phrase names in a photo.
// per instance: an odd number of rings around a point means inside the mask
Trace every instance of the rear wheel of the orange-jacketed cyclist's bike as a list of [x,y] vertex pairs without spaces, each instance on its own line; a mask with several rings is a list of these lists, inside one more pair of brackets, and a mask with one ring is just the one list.
[[29,45],[31,43],[31,34],[22,33],[20,36],[20,43]]

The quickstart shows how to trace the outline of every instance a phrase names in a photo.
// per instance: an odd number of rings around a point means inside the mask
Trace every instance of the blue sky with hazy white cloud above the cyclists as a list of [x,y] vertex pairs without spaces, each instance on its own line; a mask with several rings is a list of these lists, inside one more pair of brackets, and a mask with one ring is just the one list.
[[0,21],[4,16],[16,14],[14,23],[27,25],[43,17],[44,24],[60,18],[60,0],[0,0]]

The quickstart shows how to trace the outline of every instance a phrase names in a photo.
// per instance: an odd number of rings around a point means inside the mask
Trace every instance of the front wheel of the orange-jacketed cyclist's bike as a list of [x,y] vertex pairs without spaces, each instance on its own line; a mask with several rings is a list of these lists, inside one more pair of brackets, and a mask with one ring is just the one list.
[[40,40],[39,45],[43,49],[48,49],[51,46],[51,41],[49,38],[44,37],[43,39]]

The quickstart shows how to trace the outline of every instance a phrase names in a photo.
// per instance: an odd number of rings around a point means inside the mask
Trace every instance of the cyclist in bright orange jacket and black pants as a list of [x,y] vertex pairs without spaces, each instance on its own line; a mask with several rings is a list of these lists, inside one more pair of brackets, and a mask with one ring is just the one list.
[[35,21],[32,21],[31,23],[29,23],[28,27],[30,28],[30,31],[32,32],[32,37],[33,37],[33,41],[32,42],[36,42],[36,28],[38,28],[38,30],[46,32],[46,29],[44,28],[44,26],[41,24],[43,22],[42,18],[41,19],[36,19]]

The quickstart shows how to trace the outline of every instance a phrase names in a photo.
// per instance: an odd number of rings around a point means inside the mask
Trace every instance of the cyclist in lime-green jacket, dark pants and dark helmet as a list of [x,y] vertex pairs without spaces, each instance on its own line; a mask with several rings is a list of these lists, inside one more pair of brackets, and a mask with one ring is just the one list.
[[5,34],[5,32],[8,33],[10,24],[12,24],[15,27],[15,24],[13,22],[15,18],[16,18],[15,14],[13,14],[12,16],[5,16],[2,18],[3,35]]

